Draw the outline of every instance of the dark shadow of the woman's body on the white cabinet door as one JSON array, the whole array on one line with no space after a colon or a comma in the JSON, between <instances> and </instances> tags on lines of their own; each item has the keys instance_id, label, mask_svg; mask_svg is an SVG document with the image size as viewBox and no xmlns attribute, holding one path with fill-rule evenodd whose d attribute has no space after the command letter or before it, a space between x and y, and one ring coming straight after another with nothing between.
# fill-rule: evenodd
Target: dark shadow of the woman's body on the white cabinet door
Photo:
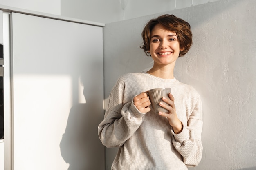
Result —
<instances>
[{"instance_id":1,"label":"dark shadow of the woman's body on the white cabinet door","mask_svg":"<svg viewBox=\"0 0 256 170\"><path fill-rule=\"evenodd\" d=\"M97 133L99 122L92 114L94 111L90 103L77 104L70 109L60 143L61 155L70 164L68 170L103 169L102 163L98 163L104 154L96 147L101 143Z\"/></svg>"}]
</instances>

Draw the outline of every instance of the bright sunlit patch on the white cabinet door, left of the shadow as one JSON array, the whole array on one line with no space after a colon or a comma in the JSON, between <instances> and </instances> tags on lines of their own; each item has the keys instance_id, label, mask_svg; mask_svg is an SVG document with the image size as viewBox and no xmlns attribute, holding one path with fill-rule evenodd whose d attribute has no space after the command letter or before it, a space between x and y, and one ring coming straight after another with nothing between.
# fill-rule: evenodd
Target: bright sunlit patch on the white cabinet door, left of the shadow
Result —
<instances>
[{"instance_id":1,"label":"bright sunlit patch on the white cabinet door, left of the shadow","mask_svg":"<svg viewBox=\"0 0 256 170\"><path fill-rule=\"evenodd\" d=\"M62 168L67 169L68 165L63 164L59 142L65 132L72 107L72 77L14 75L13 95L13 132L16 148L14 159L24 157L24 153L29 150L44 155L41 159L36 159L40 162L31 162L29 166L36 167L42 162L47 162L49 166L63 165L65 167ZM46 160L47 155L52 155L55 159L49 162ZM33 157L34 155L27 155L24 159L15 159L15 165L22 167L24 162Z\"/></svg>"}]
</instances>

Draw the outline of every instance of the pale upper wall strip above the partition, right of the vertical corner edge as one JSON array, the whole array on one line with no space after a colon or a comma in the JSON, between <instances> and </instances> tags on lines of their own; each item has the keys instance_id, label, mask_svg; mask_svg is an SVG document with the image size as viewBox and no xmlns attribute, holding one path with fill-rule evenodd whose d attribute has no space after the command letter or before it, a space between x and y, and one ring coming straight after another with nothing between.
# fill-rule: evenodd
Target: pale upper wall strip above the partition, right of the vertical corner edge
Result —
<instances>
[{"instance_id":1,"label":"pale upper wall strip above the partition, right of the vertical corner edge","mask_svg":"<svg viewBox=\"0 0 256 170\"><path fill-rule=\"evenodd\" d=\"M61 15L110 23L155 13L190 7L216 0L126 0L123 12L120 0L62 0ZM176 3L175 3L176 2Z\"/></svg>"}]
</instances>

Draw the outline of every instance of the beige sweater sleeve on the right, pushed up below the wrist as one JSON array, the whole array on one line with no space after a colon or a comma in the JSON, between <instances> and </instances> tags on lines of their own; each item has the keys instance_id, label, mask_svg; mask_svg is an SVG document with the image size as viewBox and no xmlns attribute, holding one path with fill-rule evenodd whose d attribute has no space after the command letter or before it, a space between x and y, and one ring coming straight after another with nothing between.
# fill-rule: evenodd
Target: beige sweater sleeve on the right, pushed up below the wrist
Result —
<instances>
[{"instance_id":1,"label":"beige sweater sleeve on the right, pushed up below the wrist","mask_svg":"<svg viewBox=\"0 0 256 170\"><path fill-rule=\"evenodd\" d=\"M184 126L184 123L182 123ZM186 166L197 166L202 159L202 102L200 97L192 109L187 126L183 127L182 132L175 134L171 130L174 138L173 145L182 155Z\"/></svg>"}]
</instances>

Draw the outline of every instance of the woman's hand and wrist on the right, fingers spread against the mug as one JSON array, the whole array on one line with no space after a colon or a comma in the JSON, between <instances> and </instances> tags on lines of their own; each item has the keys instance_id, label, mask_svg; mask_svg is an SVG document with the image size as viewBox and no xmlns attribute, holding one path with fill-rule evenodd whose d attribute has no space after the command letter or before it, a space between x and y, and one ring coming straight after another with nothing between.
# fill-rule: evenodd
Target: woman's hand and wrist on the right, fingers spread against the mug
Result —
<instances>
[{"instance_id":1,"label":"woman's hand and wrist on the right, fingers spread against the mug","mask_svg":"<svg viewBox=\"0 0 256 170\"><path fill-rule=\"evenodd\" d=\"M163 97L163 101L166 102L168 105L160 102L159 105L166 110L168 110L168 113L159 112L159 115L164 116L168 119L169 124L173 127L174 133L178 134L182 131L183 125L181 121L177 117L176 108L174 104L174 97L171 93L168 94L169 99L166 97Z\"/></svg>"}]
</instances>

